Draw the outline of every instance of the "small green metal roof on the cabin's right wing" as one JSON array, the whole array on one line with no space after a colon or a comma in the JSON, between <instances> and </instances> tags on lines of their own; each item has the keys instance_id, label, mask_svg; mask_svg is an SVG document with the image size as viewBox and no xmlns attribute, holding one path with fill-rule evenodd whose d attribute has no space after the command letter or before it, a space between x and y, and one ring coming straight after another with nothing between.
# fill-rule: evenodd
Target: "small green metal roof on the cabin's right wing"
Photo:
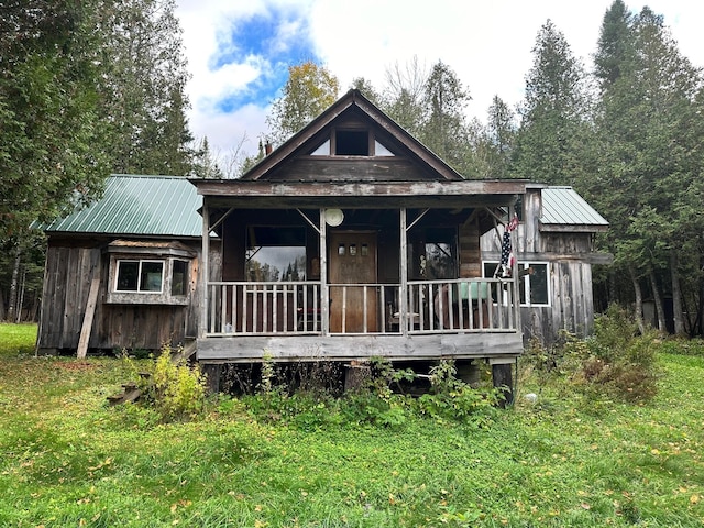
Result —
<instances>
[{"instance_id":1,"label":"small green metal roof on the cabin's right wing","mask_svg":"<svg viewBox=\"0 0 704 528\"><path fill-rule=\"evenodd\" d=\"M543 226L608 226L606 219L572 187L546 187L541 193L540 223Z\"/></svg>"}]
</instances>

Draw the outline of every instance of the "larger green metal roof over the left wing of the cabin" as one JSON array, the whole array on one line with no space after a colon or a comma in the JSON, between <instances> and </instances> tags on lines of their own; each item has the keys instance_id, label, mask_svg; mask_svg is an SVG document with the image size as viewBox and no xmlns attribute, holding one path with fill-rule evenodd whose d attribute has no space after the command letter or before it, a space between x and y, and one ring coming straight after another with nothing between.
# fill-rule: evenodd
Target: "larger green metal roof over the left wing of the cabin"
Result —
<instances>
[{"instance_id":1,"label":"larger green metal roof over the left wing of the cabin","mask_svg":"<svg viewBox=\"0 0 704 528\"><path fill-rule=\"evenodd\" d=\"M48 233L201 237L202 197L187 178L114 174L103 197L45 228Z\"/></svg>"}]
</instances>

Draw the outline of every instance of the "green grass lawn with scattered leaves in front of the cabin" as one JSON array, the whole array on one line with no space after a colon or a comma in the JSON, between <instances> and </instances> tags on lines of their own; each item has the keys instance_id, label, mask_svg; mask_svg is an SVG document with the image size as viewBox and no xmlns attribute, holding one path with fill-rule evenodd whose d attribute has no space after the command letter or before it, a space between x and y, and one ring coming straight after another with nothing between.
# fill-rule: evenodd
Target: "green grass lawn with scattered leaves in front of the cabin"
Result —
<instances>
[{"instance_id":1,"label":"green grass lawn with scattered leaves in front of the cabin","mask_svg":"<svg viewBox=\"0 0 704 528\"><path fill-rule=\"evenodd\" d=\"M106 404L123 362L24 355L35 331L0 326L0 526L704 526L700 355L662 354L647 405L528 376L535 405L479 425L272 425L240 400L158 425Z\"/></svg>"}]
</instances>

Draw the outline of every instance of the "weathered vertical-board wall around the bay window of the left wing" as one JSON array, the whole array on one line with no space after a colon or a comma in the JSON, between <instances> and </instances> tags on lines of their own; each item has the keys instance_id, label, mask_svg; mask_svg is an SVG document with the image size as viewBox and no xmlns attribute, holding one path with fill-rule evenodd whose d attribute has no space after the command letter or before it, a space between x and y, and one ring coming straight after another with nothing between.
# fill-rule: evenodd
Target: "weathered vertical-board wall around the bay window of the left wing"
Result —
<instances>
[{"instance_id":1,"label":"weathered vertical-board wall around the bay window of the left wing","mask_svg":"<svg viewBox=\"0 0 704 528\"><path fill-rule=\"evenodd\" d=\"M110 255L103 244L92 248L50 242L42 298L37 348L74 351L78 348L91 278L100 274L100 289L88 348L90 350L156 350L165 342L180 344L198 328L199 257L191 261L191 292L183 305L109 304ZM200 254L200 243L190 243ZM213 244L213 273L219 273L219 244ZM217 276L217 275L216 275Z\"/></svg>"}]
</instances>

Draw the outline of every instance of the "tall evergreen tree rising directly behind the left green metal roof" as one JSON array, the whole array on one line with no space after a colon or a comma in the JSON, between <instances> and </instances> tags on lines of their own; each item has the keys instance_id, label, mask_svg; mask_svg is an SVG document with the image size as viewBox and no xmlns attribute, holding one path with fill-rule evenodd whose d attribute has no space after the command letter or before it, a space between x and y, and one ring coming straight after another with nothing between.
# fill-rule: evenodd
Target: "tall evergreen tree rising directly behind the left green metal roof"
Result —
<instances>
[{"instance_id":1,"label":"tall evergreen tree rising directly behind the left green metal roof","mask_svg":"<svg viewBox=\"0 0 704 528\"><path fill-rule=\"evenodd\" d=\"M188 80L174 0L105 0L100 78L117 173L186 175L193 136L185 112Z\"/></svg>"}]
</instances>

